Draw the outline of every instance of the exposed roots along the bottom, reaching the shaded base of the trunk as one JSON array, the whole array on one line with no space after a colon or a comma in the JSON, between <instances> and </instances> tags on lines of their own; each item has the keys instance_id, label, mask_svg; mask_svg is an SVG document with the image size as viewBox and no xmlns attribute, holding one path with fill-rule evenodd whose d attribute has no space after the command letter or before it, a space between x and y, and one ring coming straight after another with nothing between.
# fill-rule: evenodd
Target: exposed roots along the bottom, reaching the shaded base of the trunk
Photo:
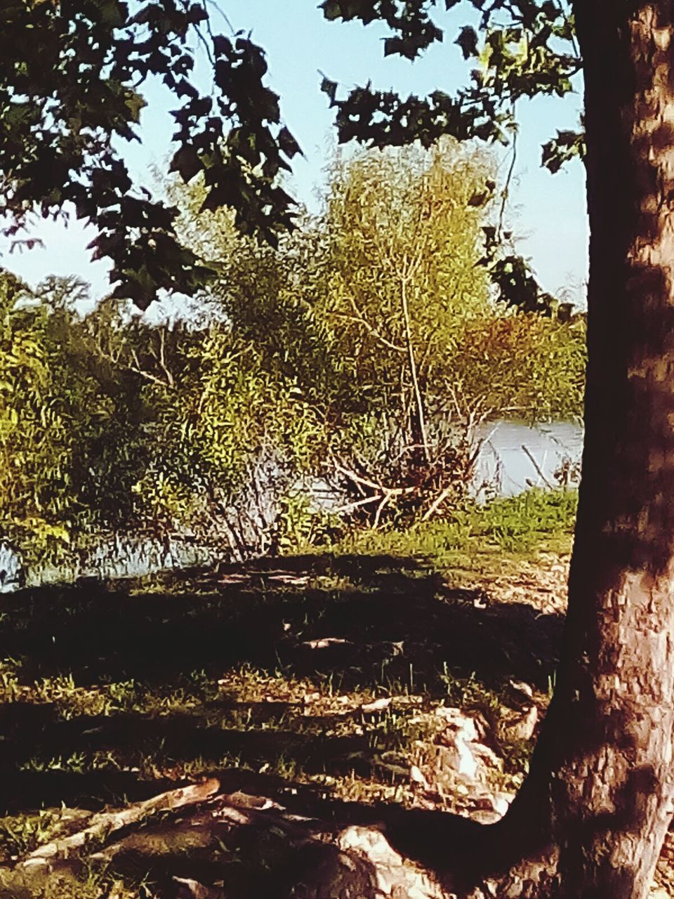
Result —
<instances>
[{"instance_id":1,"label":"exposed roots along the bottom, reaching the shaded base of the trunk","mask_svg":"<svg viewBox=\"0 0 674 899\"><path fill-rule=\"evenodd\" d=\"M77 877L92 868L129 883L146 877L146 895L156 899L560 896L554 850L532 851L528 861L508 869L505 859L519 839L506 821L483 825L386 807L377 823L333 822L291 814L266 797L218 789L218 781L208 779L93 814L83 829L40 846L13 868L0 868L0 897L76 897ZM53 891L66 883L68 890Z\"/></svg>"}]
</instances>

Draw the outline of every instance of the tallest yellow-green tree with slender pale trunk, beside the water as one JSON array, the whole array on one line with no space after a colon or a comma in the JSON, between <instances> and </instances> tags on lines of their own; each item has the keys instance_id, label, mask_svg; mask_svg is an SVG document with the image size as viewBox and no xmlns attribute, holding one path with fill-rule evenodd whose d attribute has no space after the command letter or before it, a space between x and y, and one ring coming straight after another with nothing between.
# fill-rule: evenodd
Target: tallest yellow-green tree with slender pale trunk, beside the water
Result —
<instances>
[{"instance_id":1,"label":"tallest yellow-green tree with slender pale trunk, beside the water","mask_svg":"<svg viewBox=\"0 0 674 899\"><path fill-rule=\"evenodd\" d=\"M446 143L432 153L361 154L333 176L331 311L343 352L357 347L357 366L390 386L386 407L412 463L430 464L437 442L429 384L442 392L447 372L437 369L457 325L487 300L486 273L476 266L483 203L474 202L486 167Z\"/></svg>"}]
</instances>

